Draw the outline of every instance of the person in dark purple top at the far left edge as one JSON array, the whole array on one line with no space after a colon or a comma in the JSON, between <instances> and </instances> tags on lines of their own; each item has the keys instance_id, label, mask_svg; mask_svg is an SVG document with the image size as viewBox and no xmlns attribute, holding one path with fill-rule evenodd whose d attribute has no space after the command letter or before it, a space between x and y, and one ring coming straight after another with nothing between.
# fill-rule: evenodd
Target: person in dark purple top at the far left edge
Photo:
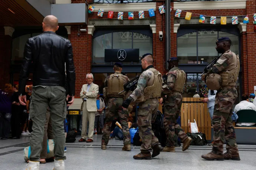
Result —
<instances>
[{"instance_id":1,"label":"person in dark purple top at the far left edge","mask_svg":"<svg viewBox=\"0 0 256 170\"><path fill-rule=\"evenodd\" d=\"M12 85L5 84L4 89L0 89L0 137L6 140L10 133L12 116Z\"/></svg>"}]
</instances>

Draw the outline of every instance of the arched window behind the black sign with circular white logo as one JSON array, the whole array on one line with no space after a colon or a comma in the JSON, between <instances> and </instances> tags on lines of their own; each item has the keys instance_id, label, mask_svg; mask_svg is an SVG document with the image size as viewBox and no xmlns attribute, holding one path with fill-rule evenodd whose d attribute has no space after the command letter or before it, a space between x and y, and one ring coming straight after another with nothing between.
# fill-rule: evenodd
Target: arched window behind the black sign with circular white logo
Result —
<instances>
[{"instance_id":1,"label":"arched window behind the black sign with circular white logo","mask_svg":"<svg viewBox=\"0 0 256 170\"><path fill-rule=\"evenodd\" d=\"M104 61L105 49L139 48L140 55L152 53L152 37L129 31L107 33L94 37L92 48L92 64L110 65L110 62ZM123 62L123 64L139 64L139 62Z\"/></svg>"}]
</instances>

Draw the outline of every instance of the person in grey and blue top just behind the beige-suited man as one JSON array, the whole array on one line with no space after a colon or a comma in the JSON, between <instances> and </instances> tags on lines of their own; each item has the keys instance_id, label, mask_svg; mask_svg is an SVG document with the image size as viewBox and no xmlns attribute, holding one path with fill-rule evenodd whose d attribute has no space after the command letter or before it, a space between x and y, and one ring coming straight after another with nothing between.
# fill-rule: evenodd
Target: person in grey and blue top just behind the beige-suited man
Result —
<instances>
[{"instance_id":1,"label":"person in grey and blue top just behind the beige-suited man","mask_svg":"<svg viewBox=\"0 0 256 170\"><path fill-rule=\"evenodd\" d=\"M94 134L98 135L97 133L97 125L99 122L99 128L101 128L101 133L103 133L104 128L104 112L105 109L105 102L102 98L99 97L100 94L97 95L96 105L97 105L97 112L95 114L95 122L94 122Z\"/></svg>"}]
</instances>

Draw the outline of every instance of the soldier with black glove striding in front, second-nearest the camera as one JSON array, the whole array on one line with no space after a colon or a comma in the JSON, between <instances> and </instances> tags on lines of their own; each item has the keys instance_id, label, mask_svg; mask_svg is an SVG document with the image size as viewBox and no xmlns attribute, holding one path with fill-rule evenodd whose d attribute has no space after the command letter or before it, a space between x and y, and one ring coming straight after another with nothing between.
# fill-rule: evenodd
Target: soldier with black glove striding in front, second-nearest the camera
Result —
<instances>
[{"instance_id":1,"label":"soldier with black glove striding in front, second-nearest the camera","mask_svg":"<svg viewBox=\"0 0 256 170\"><path fill-rule=\"evenodd\" d=\"M131 102L139 102L137 123L142 145L141 153L134 155L134 159L151 159L151 147L152 157L157 156L163 150L151 128L152 115L157 113L158 97L161 96L163 82L160 72L154 69L153 61L152 54L141 56L141 65L145 71L140 75L137 88L122 104L124 108L127 108Z\"/></svg>"}]
</instances>

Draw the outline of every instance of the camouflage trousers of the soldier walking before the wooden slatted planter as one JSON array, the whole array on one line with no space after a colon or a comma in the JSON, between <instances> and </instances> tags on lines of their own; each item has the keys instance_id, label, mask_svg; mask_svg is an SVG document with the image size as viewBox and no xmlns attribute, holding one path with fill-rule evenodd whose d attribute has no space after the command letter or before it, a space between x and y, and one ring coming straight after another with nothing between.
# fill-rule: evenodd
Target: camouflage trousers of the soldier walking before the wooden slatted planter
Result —
<instances>
[{"instance_id":1,"label":"camouflage trousers of the soldier walking before the wooden slatted planter","mask_svg":"<svg viewBox=\"0 0 256 170\"><path fill-rule=\"evenodd\" d=\"M164 104L164 130L166 133L166 146L175 146L175 134L180 137L181 142L187 139L187 134L181 129L180 125L176 122L176 119L180 115L182 105L181 93L172 93L167 96Z\"/></svg>"}]
</instances>

